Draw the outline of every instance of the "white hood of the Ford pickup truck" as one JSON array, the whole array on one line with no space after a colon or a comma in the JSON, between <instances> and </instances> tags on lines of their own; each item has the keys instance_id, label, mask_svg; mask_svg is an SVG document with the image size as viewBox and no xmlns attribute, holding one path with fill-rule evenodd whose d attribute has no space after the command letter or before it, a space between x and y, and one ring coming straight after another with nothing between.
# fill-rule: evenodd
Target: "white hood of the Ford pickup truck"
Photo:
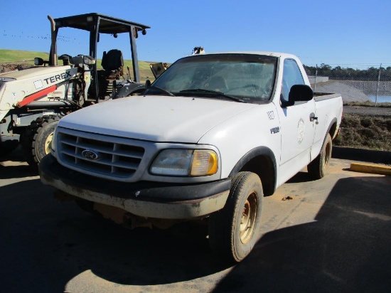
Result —
<instances>
[{"instance_id":1,"label":"white hood of the Ford pickup truck","mask_svg":"<svg viewBox=\"0 0 391 293\"><path fill-rule=\"evenodd\" d=\"M200 97L137 96L102 102L60 120L68 129L152 142L197 143L254 104Z\"/></svg>"}]
</instances>

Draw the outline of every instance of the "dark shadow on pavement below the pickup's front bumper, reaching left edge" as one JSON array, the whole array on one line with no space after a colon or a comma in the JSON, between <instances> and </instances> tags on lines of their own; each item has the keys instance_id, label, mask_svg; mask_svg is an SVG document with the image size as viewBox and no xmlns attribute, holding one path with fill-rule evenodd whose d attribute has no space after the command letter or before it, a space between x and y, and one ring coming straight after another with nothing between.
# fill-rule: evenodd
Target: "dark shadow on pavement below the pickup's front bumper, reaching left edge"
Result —
<instances>
[{"instance_id":1,"label":"dark shadow on pavement below the pickup's front bumper, reaching left edge","mask_svg":"<svg viewBox=\"0 0 391 293\"><path fill-rule=\"evenodd\" d=\"M0 173L2 170L0 169ZM128 230L57 203L39 179L0 187L4 292L63 292L91 270L118 284L167 284L220 272L203 225Z\"/></svg>"}]
</instances>

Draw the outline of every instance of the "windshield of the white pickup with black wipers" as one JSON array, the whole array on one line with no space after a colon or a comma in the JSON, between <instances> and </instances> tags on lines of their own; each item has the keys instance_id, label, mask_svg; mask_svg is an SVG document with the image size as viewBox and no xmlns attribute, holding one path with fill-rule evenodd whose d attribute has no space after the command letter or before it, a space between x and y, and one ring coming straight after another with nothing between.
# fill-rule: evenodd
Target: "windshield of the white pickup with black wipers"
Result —
<instances>
[{"instance_id":1,"label":"windshield of the white pickup with black wipers","mask_svg":"<svg viewBox=\"0 0 391 293\"><path fill-rule=\"evenodd\" d=\"M277 58L266 55L195 55L173 63L146 93L161 95L158 87L172 95L262 102L272 95L276 68Z\"/></svg>"}]
</instances>

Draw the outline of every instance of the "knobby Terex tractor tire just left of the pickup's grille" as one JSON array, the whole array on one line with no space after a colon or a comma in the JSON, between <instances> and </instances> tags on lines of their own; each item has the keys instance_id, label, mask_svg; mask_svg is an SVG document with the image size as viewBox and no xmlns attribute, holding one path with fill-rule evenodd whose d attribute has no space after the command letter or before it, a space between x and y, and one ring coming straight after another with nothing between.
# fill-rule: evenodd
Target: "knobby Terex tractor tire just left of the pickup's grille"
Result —
<instances>
[{"instance_id":1,"label":"knobby Terex tractor tire just left of the pickup's grille","mask_svg":"<svg viewBox=\"0 0 391 293\"><path fill-rule=\"evenodd\" d=\"M57 127L60 115L45 115L39 117L26 127L23 138L23 152L27 163L38 170L38 165L43 156L50 153L53 132Z\"/></svg>"}]
</instances>

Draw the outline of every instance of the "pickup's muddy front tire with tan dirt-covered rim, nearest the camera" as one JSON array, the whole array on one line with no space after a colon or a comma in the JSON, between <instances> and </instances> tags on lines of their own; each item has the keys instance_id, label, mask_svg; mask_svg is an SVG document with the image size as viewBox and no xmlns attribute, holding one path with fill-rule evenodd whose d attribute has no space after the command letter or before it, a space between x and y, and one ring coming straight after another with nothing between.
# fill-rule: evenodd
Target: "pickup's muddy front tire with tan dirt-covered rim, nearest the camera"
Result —
<instances>
[{"instance_id":1,"label":"pickup's muddy front tire with tan dirt-covered rim, nearest the camera","mask_svg":"<svg viewBox=\"0 0 391 293\"><path fill-rule=\"evenodd\" d=\"M209 244L215 254L240 262L259 240L262 183L257 174L240 172L232 179L223 210L210 215Z\"/></svg>"}]
</instances>

